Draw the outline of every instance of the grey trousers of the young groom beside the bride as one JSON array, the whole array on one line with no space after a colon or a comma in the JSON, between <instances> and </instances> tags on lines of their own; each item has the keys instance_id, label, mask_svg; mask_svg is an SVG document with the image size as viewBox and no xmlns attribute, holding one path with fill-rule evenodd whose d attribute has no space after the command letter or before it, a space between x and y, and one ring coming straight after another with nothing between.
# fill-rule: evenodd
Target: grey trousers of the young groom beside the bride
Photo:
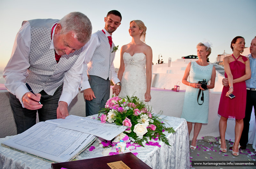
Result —
<instances>
[{"instance_id":1,"label":"grey trousers of the young groom beside the bride","mask_svg":"<svg viewBox=\"0 0 256 169\"><path fill-rule=\"evenodd\" d=\"M110 80L105 80L98 76L88 76L89 83L96 98L91 101L85 101L86 116L98 114L101 108L104 108L110 94Z\"/></svg>"}]
</instances>

